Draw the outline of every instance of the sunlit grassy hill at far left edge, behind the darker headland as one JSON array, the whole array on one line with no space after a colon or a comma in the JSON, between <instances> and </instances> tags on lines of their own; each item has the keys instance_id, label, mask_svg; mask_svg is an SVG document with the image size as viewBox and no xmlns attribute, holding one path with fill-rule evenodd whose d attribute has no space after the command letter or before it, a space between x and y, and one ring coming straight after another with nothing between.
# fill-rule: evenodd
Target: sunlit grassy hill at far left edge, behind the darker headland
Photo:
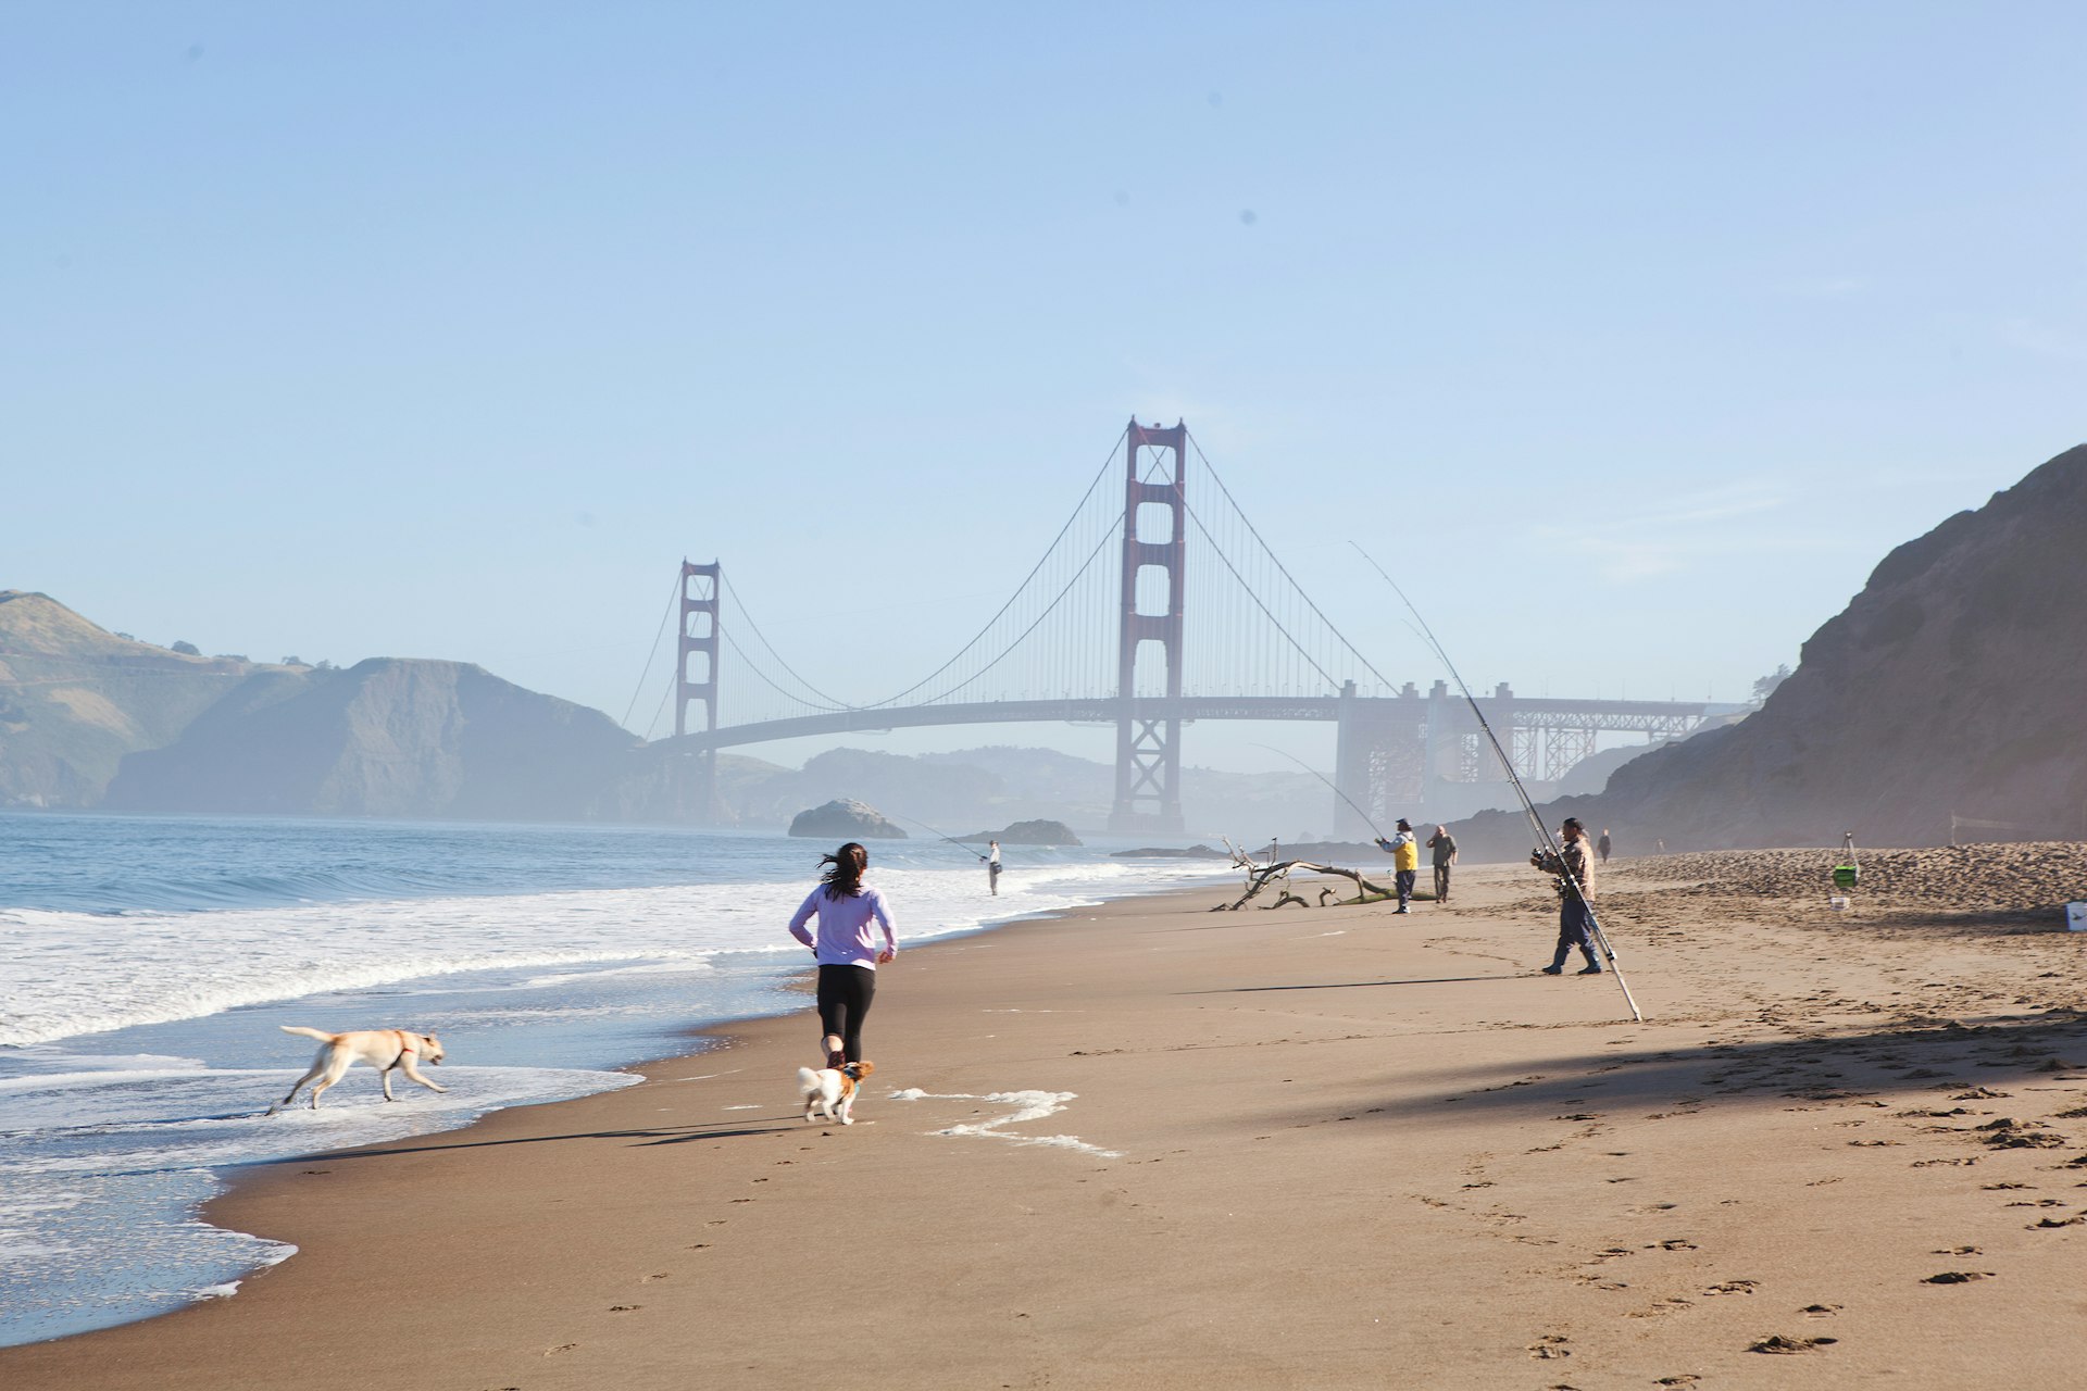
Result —
<instances>
[{"instance_id":1,"label":"sunlit grassy hill at far left edge, behind the darker headland","mask_svg":"<svg viewBox=\"0 0 2087 1391\"><path fill-rule=\"evenodd\" d=\"M121 638L0 590L0 807L92 807L123 755L171 742L261 667Z\"/></svg>"}]
</instances>

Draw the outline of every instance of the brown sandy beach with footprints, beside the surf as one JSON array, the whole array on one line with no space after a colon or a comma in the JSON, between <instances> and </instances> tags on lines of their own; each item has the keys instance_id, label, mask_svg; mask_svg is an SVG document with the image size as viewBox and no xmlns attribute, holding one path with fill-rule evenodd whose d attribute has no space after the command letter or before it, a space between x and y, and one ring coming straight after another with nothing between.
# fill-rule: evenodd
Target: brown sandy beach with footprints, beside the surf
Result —
<instances>
[{"instance_id":1,"label":"brown sandy beach with footprints, beside the surf","mask_svg":"<svg viewBox=\"0 0 2087 1391\"><path fill-rule=\"evenodd\" d=\"M269 1166L213 1220L296 1258L0 1385L2081 1385L2087 934L1947 874L1828 913L1830 859L1611 865L1645 1024L1532 974L1517 868L910 951L851 1128L799 1016Z\"/></svg>"}]
</instances>

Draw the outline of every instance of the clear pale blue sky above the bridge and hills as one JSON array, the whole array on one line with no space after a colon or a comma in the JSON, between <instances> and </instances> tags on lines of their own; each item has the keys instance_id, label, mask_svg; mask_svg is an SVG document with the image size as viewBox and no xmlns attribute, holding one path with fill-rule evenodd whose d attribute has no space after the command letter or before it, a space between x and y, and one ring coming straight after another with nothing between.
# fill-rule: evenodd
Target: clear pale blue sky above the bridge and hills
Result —
<instances>
[{"instance_id":1,"label":"clear pale blue sky above the bridge and hills","mask_svg":"<svg viewBox=\"0 0 2087 1391\"><path fill-rule=\"evenodd\" d=\"M15 2L0 586L622 715L722 557L877 699L1181 415L1386 672L1436 676L1350 538L1473 682L1743 699L2087 438L2083 52L2077 4Z\"/></svg>"}]
</instances>

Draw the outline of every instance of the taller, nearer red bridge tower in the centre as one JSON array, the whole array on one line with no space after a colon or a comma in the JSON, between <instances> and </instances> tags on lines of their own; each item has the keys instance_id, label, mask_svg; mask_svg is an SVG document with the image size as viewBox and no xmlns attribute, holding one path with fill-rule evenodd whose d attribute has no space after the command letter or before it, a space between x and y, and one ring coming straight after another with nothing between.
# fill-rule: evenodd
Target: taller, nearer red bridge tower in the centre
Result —
<instances>
[{"instance_id":1,"label":"taller, nearer red bridge tower in the centre","mask_svg":"<svg viewBox=\"0 0 2087 1391\"><path fill-rule=\"evenodd\" d=\"M1154 482L1137 478L1137 450L1150 450ZM1167 450L1173 453L1169 465ZM1146 717L1137 703L1137 655L1158 642L1167 699L1181 699L1181 599L1185 592L1188 515L1181 475L1188 425L1171 430L1131 419L1123 444L1123 611L1117 626L1117 805L1108 830L1181 834L1181 719ZM1165 521L1165 534L1160 523ZM1154 569L1167 580L1167 605L1142 611L1137 580ZM1148 594L1156 601L1156 594Z\"/></svg>"}]
</instances>

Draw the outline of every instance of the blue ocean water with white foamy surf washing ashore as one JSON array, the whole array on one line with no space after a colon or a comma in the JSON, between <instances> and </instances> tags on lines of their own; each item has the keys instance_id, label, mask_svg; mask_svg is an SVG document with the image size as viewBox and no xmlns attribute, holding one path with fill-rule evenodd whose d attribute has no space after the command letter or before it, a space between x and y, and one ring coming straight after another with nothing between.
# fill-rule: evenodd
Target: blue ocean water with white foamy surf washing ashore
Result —
<instances>
[{"instance_id":1,"label":"blue ocean water with white foamy surf washing ashore","mask_svg":"<svg viewBox=\"0 0 2087 1391\"><path fill-rule=\"evenodd\" d=\"M198 1207L240 1166L626 1087L682 1030L783 1014L785 922L824 847L599 826L0 813L0 1345L232 1295L280 1243ZM870 847L899 945L1208 880L1110 847L1008 847L1000 897L941 840ZM436 1095L353 1068L267 1107L317 1045L442 1036Z\"/></svg>"}]
</instances>

